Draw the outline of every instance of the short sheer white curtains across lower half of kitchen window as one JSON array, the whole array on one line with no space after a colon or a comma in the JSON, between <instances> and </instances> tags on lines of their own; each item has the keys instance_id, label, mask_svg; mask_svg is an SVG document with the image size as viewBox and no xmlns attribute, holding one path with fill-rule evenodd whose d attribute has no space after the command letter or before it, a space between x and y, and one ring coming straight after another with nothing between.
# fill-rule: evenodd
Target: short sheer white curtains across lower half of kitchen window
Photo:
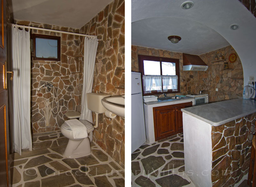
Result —
<instances>
[{"instance_id":1,"label":"short sheer white curtains across lower half of kitchen window","mask_svg":"<svg viewBox=\"0 0 256 187\"><path fill-rule=\"evenodd\" d=\"M178 75L143 75L144 93L151 93L152 90L157 92L178 91ZM163 90L162 90L163 82Z\"/></svg>"}]
</instances>

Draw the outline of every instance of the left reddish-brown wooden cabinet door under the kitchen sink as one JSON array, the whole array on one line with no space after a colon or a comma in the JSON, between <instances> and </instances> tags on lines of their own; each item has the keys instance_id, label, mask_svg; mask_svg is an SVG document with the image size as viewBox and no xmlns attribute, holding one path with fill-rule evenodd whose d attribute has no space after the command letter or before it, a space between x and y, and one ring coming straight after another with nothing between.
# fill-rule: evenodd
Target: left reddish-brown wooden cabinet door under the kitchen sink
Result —
<instances>
[{"instance_id":1,"label":"left reddish-brown wooden cabinet door under the kitchen sink","mask_svg":"<svg viewBox=\"0 0 256 187\"><path fill-rule=\"evenodd\" d=\"M156 141L176 133L175 107L172 105L154 107L153 113Z\"/></svg>"}]
</instances>

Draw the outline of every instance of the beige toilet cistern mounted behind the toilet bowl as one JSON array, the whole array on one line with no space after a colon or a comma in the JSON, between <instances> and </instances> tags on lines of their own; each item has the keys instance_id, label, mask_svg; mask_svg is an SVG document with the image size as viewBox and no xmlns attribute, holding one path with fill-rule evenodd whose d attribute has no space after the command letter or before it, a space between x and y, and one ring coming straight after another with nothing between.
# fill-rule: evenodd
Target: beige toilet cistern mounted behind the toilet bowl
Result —
<instances>
[{"instance_id":1,"label":"beige toilet cistern mounted behind the toilet bowl","mask_svg":"<svg viewBox=\"0 0 256 187\"><path fill-rule=\"evenodd\" d=\"M86 93L88 109L92 112L104 113L107 109L101 104L101 99L109 96L110 95L104 93Z\"/></svg>"}]
</instances>

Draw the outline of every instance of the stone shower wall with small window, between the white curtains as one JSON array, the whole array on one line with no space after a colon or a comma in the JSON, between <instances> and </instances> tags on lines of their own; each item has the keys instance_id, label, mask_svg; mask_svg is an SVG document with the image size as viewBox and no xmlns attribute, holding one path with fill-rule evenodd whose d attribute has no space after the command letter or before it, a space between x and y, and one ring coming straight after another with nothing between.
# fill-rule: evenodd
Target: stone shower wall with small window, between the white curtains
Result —
<instances>
[{"instance_id":1,"label":"stone shower wall with small window, between the white curtains","mask_svg":"<svg viewBox=\"0 0 256 187\"><path fill-rule=\"evenodd\" d=\"M41 24L29 21L15 21L20 25L32 27L42 27L53 30L61 30L79 33L79 29L70 27L60 27L48 24ZM60 34L56 32L31 29L31 33L42 35L57 35L61 37L61 61L32 60L31 63L31 123L32 132L46 132L59 130L60 126L67 120L64 115L67 111L80 111L81 105L81 84L82 56L79 50L79 36ZM44 108L45 101L53 100L53 88L48 91L46 88L36 89L45 82L51 82L57 90L60 99L60 109L57 114L53 114L46 127ZM57 111L57 100L53 105L53 110ZM52 107L52 105L50 105Z\"/></svg>"}]
</instances>

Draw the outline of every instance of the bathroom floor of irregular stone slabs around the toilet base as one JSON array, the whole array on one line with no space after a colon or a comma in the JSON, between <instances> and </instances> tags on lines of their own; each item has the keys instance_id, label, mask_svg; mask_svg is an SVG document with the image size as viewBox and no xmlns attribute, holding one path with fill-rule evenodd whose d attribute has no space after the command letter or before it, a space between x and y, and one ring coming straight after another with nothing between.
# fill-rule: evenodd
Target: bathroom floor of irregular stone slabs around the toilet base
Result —
<instances>
[{"instance_id":1,"label":"bathroom floor of irregular stone slabs around the toilet base","mask_svg":"<svg viewBox=\"0 0 256 187\"><path fill-rule=\"evenodd\" d=\"M12 187L123 187L124 169L98 145L76 159L62 156L66 145L11 155Z\"/></svg>"}]
</instances>

